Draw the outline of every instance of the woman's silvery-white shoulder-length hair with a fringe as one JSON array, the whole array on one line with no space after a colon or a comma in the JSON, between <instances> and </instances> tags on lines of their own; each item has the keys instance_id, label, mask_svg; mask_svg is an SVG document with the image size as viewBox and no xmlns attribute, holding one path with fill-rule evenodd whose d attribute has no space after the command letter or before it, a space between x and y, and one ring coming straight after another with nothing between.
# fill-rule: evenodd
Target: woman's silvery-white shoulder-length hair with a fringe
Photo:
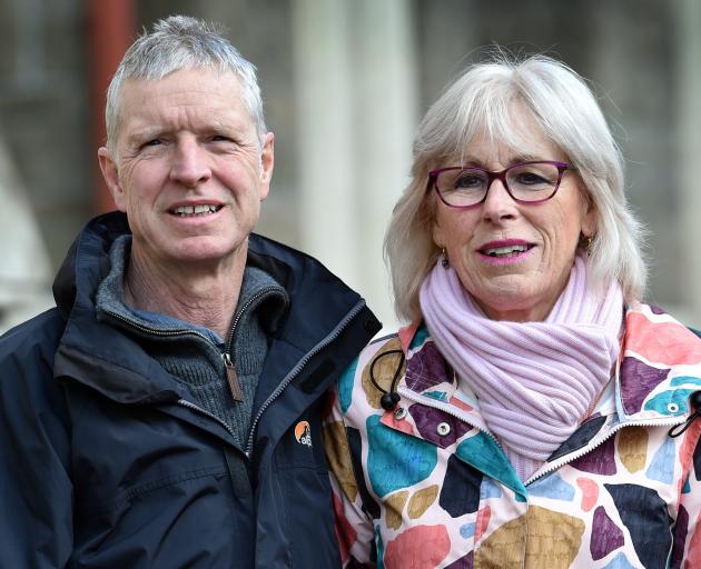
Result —
<instances>
[{"instance_id":1,"label":"woman's silvery-white shoulder-length hair with a fringe","mask_svg":"<svg viewBox=\"0 0 701 569\"><path fill-rule=\"evenodd\" d=\"M418 292L440 254L433 241L436 198L427 193L428 172L461 160L478 133L520 148L527 133L514 126L524 109L569 157L595 208L598 229L588 247L594 284L618 280L626 301L644 295L644 229L628 204L623 158L592 91L560 61L544 56L509 59L500 53L470 67L448 86L418 127L412 180L394 208L385 237L385 259L401 319L421 317Z\"/></svg>"}]
</instances>

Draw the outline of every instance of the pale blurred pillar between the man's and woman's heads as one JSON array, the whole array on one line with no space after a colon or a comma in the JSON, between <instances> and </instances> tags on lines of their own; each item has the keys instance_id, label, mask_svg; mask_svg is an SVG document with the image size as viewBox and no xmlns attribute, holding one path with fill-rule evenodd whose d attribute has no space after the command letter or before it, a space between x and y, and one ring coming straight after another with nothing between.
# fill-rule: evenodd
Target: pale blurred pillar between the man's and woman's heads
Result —
<instances>
[{"instance_id":1,"label":"pale blurred pillar between the man's and woman's heads","mask_svg":"<svg viewBox=\"0 0 701 569\"><path fill-rule=\"evenodd\" d=\"M404 0L296 0L303 248L396 328L382 241L408 181L416 58Z\"/></svg>"}]
</instances>

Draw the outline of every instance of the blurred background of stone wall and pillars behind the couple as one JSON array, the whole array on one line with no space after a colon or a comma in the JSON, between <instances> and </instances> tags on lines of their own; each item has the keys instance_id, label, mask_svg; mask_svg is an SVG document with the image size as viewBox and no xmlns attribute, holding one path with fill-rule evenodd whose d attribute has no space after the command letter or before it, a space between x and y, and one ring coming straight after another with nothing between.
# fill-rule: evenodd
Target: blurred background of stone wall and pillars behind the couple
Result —
<instances>
[{"instance_id":1,"label":"blurred background of stone wall and pillars behind the couple","mask_svg":"<svg viewBox=\"0 0 701 569\"><path fill-rule=\"evenodd\" d=\"M259 232L319 258L395 326L382 238L412 138L485 49L588 78L650 230L648 300L701 327L700 0L0 0L0 331L52 305L97 168L105 90L155 20L221 22L258 67L276 167Z\"/></svg>"}]
</instances>

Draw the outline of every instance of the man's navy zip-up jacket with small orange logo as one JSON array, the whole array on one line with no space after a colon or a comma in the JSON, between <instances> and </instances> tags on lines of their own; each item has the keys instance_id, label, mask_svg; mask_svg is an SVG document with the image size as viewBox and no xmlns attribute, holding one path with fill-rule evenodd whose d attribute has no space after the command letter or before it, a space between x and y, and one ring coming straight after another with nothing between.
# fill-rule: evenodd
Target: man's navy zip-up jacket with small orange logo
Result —
<instances>
[{"instance_id":1,"label":"man's navy zip-up jacket with small orange logo","mask_svg":"<svg viewBox=\"0 0 701 569\"><path fill-rule=\"evenodd\" d=\"M248 263L290 305L238 448L186 385L97 320L126 231L121 214L92 220L57 276L57 308L0 340L0 567L338 567L322 396L377 320L317 261L251 236Z\"/></svg>"}]
</instances>

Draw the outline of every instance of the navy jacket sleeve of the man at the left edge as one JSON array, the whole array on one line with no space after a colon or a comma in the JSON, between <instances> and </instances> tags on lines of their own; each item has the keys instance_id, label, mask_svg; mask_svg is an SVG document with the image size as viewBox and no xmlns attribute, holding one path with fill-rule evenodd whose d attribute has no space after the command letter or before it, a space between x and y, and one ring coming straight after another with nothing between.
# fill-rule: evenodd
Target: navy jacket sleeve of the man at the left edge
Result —
<instances>
[{"instance_id":1,"label":"navy jacket sleeve of the man at the left edge","mask_svg":"<svg viewBox=\"0 0 701 569\"><path fill-rule=\"evenodd\" d=\"M70 430L52 362L31 342L0 340L0 567L56 569L72 552Z\"/></svg>"}]
</instances>

